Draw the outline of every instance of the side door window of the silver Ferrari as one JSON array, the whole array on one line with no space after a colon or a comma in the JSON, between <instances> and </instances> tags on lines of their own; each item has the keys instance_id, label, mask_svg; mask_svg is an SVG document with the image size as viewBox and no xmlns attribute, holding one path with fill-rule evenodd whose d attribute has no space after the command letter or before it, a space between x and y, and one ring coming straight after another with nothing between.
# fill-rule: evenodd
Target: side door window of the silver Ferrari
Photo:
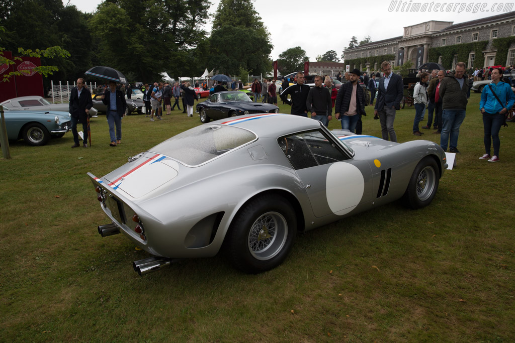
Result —
<instances>
[{"instance_id":1,"label":"side door window of the silver Ferrari","mask_svg":"<svg viewBox=\"0 0 515 343\"><path fill-rule=\"evenodd\" d=\"M294 169L321 166L349 158L319 130L281 137L278 143Z\"/></svg>"}]
</instances>

